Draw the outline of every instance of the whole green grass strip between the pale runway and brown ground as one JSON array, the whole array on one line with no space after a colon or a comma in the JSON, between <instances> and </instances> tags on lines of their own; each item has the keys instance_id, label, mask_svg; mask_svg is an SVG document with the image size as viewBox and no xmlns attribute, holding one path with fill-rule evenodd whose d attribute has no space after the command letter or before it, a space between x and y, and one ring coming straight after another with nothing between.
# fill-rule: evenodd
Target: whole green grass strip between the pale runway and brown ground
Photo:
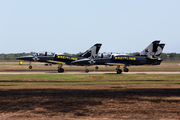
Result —
<instances>
[{"instance_id":1,"label":"whole green grass strip between the pale runway and brown ground","mask_svg":"<svg viewBox=\"0 0 180 120\"><path fill-rule=\"evenodd\" d=\"M0 85L27 84L180 84L180 75L0 75Z\"/></svg>"}]
</instances>

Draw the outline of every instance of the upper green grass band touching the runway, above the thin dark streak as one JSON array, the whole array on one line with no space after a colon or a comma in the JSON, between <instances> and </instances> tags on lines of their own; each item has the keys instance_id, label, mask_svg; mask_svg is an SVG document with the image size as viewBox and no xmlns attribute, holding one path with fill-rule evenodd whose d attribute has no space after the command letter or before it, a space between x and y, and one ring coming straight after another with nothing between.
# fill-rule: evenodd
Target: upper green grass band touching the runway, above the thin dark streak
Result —
<instances>
[{"instance_id":1,"label":"upper green grass band touching the runway, above the thin dark streak","mask_svg":"<svg viewBox=\"0 0 180 120\"><path fill-rule=\"evenodd\" d=\"M59 74L32 74L32 75L0 75L1 80L43 80L43 81L101 81L101 80L180 80L180 75L125 75L125 74L105 74L105 75L59 75Z\"/></svg>"}]
</instances>

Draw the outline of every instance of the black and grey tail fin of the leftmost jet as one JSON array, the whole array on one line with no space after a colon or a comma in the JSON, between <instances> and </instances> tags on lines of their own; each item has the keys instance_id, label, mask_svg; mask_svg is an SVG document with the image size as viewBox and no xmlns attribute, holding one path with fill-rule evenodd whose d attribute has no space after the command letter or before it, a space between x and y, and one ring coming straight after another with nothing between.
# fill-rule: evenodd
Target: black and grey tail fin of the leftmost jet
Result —
<instances>
[{"instance_id":1,"label":"black and grey tail fin of the leftmost jet","mask_svg":"<svg viewBox=\"0 0 180 120\"><path fill-rule=\"evenodd\" d=\"M101 48L100 43L95 44L94 46L92 46L90 49L88 49L87 51L85 51L82 55L80 55L81 57L95 57L95 55L99 52L99 49Z\"/></svg>"}]
</instances>

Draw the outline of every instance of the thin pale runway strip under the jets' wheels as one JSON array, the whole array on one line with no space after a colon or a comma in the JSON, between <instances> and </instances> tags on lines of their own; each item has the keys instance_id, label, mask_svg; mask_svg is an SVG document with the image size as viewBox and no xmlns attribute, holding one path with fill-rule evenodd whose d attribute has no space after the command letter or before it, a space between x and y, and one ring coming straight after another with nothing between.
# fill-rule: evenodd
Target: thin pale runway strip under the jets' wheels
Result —
<instances>
[{"instance_id":1,"label":"thin pale runway strip under the jets' wheels","mask_svg":"<svg viewBox=\"0 0 180 120\"><path fill-rule=\"evenodd\" d=\"M24 75L24 74L117 74L116 72L0 72L0 75ZM123 72L122 74L180 74L180 72Z\"/></svg>"}]
</instances>

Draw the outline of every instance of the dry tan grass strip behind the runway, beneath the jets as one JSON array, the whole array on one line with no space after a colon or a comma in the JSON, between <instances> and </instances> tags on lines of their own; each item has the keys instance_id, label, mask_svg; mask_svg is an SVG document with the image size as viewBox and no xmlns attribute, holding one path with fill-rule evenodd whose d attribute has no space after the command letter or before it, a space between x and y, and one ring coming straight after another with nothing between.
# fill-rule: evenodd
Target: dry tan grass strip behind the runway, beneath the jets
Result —
<instances>
[{"instance_id":1,"label":"dry tan grass strip behind the runway, beneath the jets","mask_svg":"<svg viewBox=\"0 0 180 120\"><path fill-rule=\"evenodd\" d=\"M53 66L44 66L42 63L33 63L33 68L30 70L28 68L28 63L24 65L18 65L18 62L13 64L11 62L0 64L0 72L36 72L36 71L45 71L45 72L57 72L58 65ZM85 66L67 66L63 65L65 72L80 71L84 72ZM123 67L121 67L122 69ZM164 72L176 72L180 71L180 61L163 62L161 65L157 66L130 66L128 67L130 72L149 72L149 71L164 71ZM116 72L116 66L105 66L100 65L98 70L95 70L95 66L88 66L90 72L94 71L114 71Z\"/></svg>"}]
</instances>

